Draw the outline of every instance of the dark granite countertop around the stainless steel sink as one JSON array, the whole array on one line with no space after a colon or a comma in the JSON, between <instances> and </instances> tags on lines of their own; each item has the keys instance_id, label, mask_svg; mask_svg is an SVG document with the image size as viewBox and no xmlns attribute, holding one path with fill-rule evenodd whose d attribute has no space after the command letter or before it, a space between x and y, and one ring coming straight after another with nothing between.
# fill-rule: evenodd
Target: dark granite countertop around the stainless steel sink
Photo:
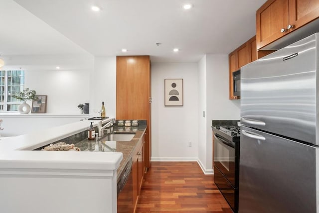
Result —
<instances>
[{"instance_id":1,"label":"dark granite countertop around the stainless steel sink","mask_svg":"<svg viewBox=\"0 0 319 213\"><path fill-rule=\"evenodd\" d=\"M142 139L147 125L144 122L139 121L139 126L117 126L113 125L110 128L104 130L104 136L99 140L84 139L77 143L74 143L76 147L79 147L81 151L98 151L98 152L122 152L123 160L117 169L117 179L121 176L125 165L132 158L133 151L137 146L139 140ZM107 141L106 136L110 133L135 133L134 137L130 141Z\"/></svg>"}]
</instances>

